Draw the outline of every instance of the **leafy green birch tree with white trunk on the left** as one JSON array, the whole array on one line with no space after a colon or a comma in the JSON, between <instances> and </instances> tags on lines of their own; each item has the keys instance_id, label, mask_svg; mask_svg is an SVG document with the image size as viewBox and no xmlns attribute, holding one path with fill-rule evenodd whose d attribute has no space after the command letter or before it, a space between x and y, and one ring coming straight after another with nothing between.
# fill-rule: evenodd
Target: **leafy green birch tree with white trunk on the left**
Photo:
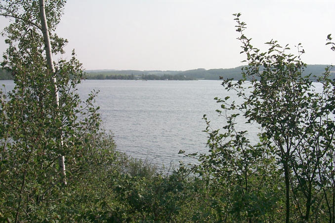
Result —
<instances>
[{"instance_id":1,"label":"leafy green birch tree with white trunk on the left","mask_svg":"<svg viewBox=\"0 0 335 223\"><path fill-rule=\"evenodd\" d=\"M82 144L89 147L99 129L95 93L83 102L76 91L83 71L75 53L68 61L52 60L67 43L54 33L64 5L0 2L0 15L11 22L3 31L8 48L1 66L15 83L11 91L0 89L0 221L58 218L55 204L84 173L89 154Z\"/></svg>"}]
</instances>

